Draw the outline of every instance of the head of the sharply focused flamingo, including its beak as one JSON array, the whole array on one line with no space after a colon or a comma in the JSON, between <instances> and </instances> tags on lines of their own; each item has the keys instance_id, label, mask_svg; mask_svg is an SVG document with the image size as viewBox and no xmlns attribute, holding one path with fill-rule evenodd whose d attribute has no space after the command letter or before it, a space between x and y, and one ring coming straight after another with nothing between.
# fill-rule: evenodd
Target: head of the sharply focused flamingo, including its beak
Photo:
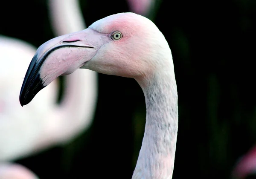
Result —
<instances>
[{"instance_id":1,"label":"head of the sharply focused flamingo, including its beak","mask_svg":"<svg viewBox=\"0 0 256 179\"><path fill-rule=\"evenodd\" d=\"M20 104L28 104L55 78L78 68L137 81L150 78L172 64L166 55L171 56L168 43L151 20L134 13L105 17L38 48L21 87Z\"/></svg>"}]
</instances>

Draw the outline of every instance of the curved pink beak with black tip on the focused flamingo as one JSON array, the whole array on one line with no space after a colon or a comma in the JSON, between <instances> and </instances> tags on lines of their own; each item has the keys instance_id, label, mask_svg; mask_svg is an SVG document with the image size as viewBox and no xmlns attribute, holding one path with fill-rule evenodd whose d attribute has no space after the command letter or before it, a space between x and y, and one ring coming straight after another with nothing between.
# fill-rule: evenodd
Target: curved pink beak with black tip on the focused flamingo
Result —
<instances>
[{"instance_id":1,"label":"curved pink beak with black tip on the focused flamingo","mask_svg":"<svg viewBox=\"0 0 256 179\"><path fill-rule=\"evenodd\" d=\"M35 95L60 75L79 69L111 41L107 34L93 29L74 32L53 38L36 51L27 69L21 90L21 106L29 104Z\"/></svg>"}]
</instances>

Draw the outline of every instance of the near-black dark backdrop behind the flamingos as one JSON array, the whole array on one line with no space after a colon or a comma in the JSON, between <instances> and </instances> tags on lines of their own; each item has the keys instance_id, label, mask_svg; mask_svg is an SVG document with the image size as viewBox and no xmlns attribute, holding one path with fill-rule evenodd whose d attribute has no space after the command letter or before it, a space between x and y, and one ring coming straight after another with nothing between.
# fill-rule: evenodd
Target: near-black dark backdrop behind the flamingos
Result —
<instances>
[{"instance_id":1,"label":"near-black dark backdrop behind the flamingos","mask_svg":"<svg viewBox=\"0 0 256 179\"><path fill-rule=\"evenodd\" d=\"M125 0L80 0L87 26L128 12ZM154 23L172 49L179 100L173 179L230 178L256 143L255 0L162 0ZM151 16L153 17L153 16ZM0 34L38 47L55 37L47 0L3 0ZM99 74L92 127L63 147L15 162L41 179L131 179L145 101L135 80Z\"/></svg>"}]
</instances>

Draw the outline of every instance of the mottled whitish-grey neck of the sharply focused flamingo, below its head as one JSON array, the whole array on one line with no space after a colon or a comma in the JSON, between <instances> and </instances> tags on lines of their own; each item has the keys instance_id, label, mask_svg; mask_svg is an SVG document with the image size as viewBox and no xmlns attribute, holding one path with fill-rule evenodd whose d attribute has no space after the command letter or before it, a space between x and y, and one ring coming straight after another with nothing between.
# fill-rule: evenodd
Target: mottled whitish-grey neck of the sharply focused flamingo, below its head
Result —
<instances>
[{"instance_id":1,"label":"mottled whitish-grey neck of the sharply focused flamingo, below its head","mask_svg":"<svg viewBox=\"0 0 256 179\"><path fill-rule=\"evenodd\" d=\"M170 71L158 75L146 87L142 87L147 115L142 147L132 179L172 179L178 108L175 75Z\"/></svg>"}]
</instances>

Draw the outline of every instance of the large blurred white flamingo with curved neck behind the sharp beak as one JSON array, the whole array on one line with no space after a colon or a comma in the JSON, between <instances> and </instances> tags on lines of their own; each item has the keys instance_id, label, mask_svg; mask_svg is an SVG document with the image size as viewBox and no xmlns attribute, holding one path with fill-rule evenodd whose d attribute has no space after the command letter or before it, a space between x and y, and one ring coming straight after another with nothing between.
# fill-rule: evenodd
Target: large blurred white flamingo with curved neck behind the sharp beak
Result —
<instances>
[{"instance_id":1,"label":"large blurred white flamingo with curved neck behind the sharp beak","mask_svg":"<svg viewBox=\"0 0 256 179\"><path fill-rule=\"evenodd\" d=\"M56 35L86 28L77 0L49 0L49 12ZM20 85L35 50L22 40L0 36L0 162L64 144L89 127L93 119L97 76L90 70L66 77L60 104L56 103L58 86L54 81L35 101L20 107ZM1 171L11 165L4 166Z\"/></svg>"}]
</instances>

